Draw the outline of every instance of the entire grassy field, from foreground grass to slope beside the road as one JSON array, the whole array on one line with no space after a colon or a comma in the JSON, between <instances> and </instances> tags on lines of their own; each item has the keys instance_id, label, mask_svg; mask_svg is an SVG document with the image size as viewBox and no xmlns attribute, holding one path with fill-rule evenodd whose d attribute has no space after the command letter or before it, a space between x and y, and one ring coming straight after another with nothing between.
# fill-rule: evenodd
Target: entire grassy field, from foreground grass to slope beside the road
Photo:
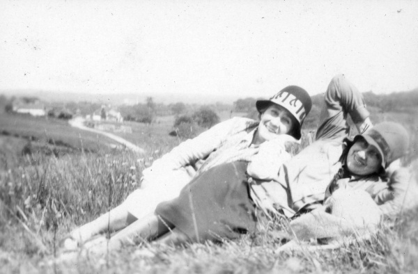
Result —
<instances>
[{"instance_id":1,"label":"entire grassy field, from foreground grass to slope beside the road","mask_svg":"<svg viewBox=\"0 0 418 274\"><path fill-rule=\"evenodd\" d=\"M411 163L418 154L417 113L374 111L372 119L407 127L412 143L403 161L417 170L418 161ZM60 241L71 229L120 204L139 187L141 171L180 142L168 135L169 119L131 125L132 134L121 136L144 147L145 155L111 149L112 140L88 136L59 120L1 115L0 273L417 273L417 209L383 223L369 241L339 250L277 254L282 243L268 229L222 244L167 248L142 243L103 258L56 264ZM304 132L304 144L309 134ZM31 143L50 145L51 150L65 147L63 143L72 150L33 150L22 156L20 147L30 136Z\"/></svg>"}]
</instances>

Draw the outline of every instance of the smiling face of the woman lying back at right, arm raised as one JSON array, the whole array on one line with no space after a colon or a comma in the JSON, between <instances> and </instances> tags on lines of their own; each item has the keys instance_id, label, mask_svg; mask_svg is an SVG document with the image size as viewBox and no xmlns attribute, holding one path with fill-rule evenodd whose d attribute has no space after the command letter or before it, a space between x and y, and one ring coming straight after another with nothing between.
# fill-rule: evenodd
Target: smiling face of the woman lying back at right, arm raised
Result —
<instances>
[{"instance_id":1,"label":"smiling face of the woman lying back at right, arm raised","mask_svg":"<svg viewBox=\"0 0 418 274\"><path fill-rule=\"evenodd\" d=\"M381 168L382 159L376 147L358 138L347 155L347 168L355 175L371 175Z\"/></svg>"}]
</instances>

